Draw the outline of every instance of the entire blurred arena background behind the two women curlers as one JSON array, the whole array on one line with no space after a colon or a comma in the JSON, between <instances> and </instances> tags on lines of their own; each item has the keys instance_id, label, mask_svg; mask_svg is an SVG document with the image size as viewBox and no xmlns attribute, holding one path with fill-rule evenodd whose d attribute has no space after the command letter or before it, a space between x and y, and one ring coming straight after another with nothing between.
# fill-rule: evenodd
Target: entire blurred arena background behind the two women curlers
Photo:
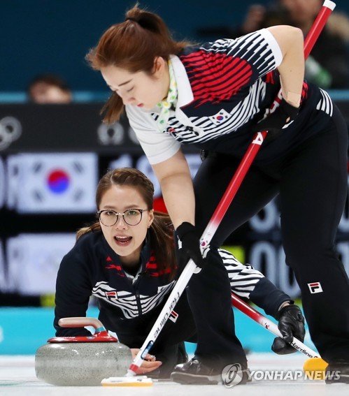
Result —
<instances>
[{"instance_id":1,"label":"entire blurred arena background behind the two women curlers","mask_svg":"<svg viewBox=\"0 0 349 396\"><path fill-rule=\"evenodd\" d=\"M101 123L99 112L109 91L100 73L85 62L90 47L111 24L124 20L134 3L1 0L0 354L34 353L54 335L59 263L73 247L76 230L95 219L94 191L108 168L142 170L155 184L156 208L166 210L127 119L111 126ZM140 6L162 16L175 38L203 42L279 23L298 24L306 35L320 3L144 0ZM288 13L285 7L290 7ZM329 91L349 124L348 1L336 1L335 11L306 73ZM190 148L185 153L194 176L199 153ZM336 246L349 273L347 210ZM277 200L229 238L227 249L292 298L300 297L285 265ZM97 316L94 308L92 299L91 316ZM253 329L251 335L243 330L246 342L251 342ZM258 334L261 331L264 335L263 330ZM249 347L263 344L257 337Z\"/></svg>"}]
</instances>

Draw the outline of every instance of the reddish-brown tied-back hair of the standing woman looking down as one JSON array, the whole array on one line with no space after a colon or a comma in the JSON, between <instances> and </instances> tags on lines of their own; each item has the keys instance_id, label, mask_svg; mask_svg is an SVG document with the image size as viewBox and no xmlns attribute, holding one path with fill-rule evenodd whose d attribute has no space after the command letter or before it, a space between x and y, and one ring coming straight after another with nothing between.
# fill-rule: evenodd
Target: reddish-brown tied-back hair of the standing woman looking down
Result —
<instances>
[{"instance_id":1,"label":"reddish-brown tied-back hair of the standing woman looking down","mask_svg":"<svg viewBox=\"0 0 349 396\"><path fill-rule=\"evenodd\" d=\"M104 32L85 59L98 71L106 66L116 66L130 73L143 71L152 75L157 57L168 61L171 54L178 54L187 45L190 45L187 41L173 40L159 15L136 5L127 11L124 22L113 24ZM122 98L113 92L101 110L103 121L107 124L117 122L123 110Z\"/></svg>"}]
</instances>

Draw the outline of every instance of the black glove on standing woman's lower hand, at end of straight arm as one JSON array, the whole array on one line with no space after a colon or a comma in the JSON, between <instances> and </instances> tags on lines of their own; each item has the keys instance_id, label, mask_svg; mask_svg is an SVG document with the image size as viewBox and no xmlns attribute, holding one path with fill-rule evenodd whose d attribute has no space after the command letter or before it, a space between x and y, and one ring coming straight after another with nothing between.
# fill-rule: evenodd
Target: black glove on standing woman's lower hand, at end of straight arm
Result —
<instances>
[{"instance_id":1,"label":"black glove on standing woman's lower hand, at end of straight arm","mask_svg":"<svg viewBox=\"0 0 349 396\"><path fill-rule=\"evenodd\" d=\"M204 258L201 254L200 240L195 233L195 227L190 223L184 222L178 226L176 232L180 242L182 242L182 247L178 250L180 272L187 265L190 258L198 267L202 268L204 266Z\"/></svg>"}]
</instances>

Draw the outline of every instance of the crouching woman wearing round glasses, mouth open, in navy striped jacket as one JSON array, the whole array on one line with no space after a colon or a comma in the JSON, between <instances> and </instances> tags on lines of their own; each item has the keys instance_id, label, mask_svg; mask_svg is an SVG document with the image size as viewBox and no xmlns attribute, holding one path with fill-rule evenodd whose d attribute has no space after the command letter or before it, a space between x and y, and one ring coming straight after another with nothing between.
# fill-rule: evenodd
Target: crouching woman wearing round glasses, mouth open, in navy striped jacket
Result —
<instances>
[{"instance_id":1,"label":"crouching woman wearing round glasses, mouth open, in navy striped jacket","mask_svg":"<svg viewBox=\"0 0 349 396\"><path fill-rule=\"evenodd\" d=\"M134 168L110 170L101 178L96 193L99 221L78 230L76 245L64 256L57 274L54 322L57 336L90 335L85 328L61 328L58 321L86 316L93 295L98 301L99 320L134 355L138 353L176 279L173 228L166 214L153 210L153 194L150 179ZM190 288L203 299L206 288L212 289L215 309L208 310L207 315L215 318L221 314L222 287L215 280L215 272L222 260L234 293L249 298L276 317L283 335L304 339L304 319L290 296L250 265L239 263L229 252L219 250L218 259L213 251L208 254L212 263L190 281ZM195 280L198 278L201 281ZM185 340L197 342L200 337L201 348L214 342L205 339L205 327L197 324L198 334L184 293L140 373L159 369L161 377L168 377L176 364L186 360ZM231 332L234 335L234 322ZM272 348L276 353L294 351L280 338Z\"/></svg>"}]
</instances>

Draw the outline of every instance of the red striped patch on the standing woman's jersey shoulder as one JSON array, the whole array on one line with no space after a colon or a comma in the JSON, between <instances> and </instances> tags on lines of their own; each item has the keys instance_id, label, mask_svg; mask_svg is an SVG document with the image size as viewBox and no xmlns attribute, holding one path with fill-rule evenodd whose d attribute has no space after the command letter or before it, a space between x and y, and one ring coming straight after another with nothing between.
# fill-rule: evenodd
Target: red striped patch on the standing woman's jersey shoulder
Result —
<instances>
[{"instance_id":1,"label":"red striped patch on the standing woman's jersey shoulder","mask_svg":"<svg viewBox=\"0 0 349 396\"><path fill-rule=\"evenodd\" d=\"M194 101L219 103L234 96L251 78L252 68L247 61L199 50L180 57L192 86Z\"/></svg>"}]
</instances>

